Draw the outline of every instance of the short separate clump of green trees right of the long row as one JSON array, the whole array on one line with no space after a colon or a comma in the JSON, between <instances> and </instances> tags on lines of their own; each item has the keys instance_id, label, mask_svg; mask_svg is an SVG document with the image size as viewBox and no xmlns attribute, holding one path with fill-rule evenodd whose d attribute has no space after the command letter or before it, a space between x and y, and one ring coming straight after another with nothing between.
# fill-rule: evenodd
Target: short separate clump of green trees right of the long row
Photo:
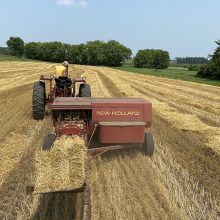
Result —
<instances>
[{"instance_id":1,"label":"short separate clump of green trees right of the long row","mask_svg":"<svg viewBox=\"0 0 220 220\"><path fill-rule=\"evenodd\" d=\"M169 52L164 50L139 50L134 58L134 66L140 68L166 69L169 62Z\"/></svg>"}]
</instances>

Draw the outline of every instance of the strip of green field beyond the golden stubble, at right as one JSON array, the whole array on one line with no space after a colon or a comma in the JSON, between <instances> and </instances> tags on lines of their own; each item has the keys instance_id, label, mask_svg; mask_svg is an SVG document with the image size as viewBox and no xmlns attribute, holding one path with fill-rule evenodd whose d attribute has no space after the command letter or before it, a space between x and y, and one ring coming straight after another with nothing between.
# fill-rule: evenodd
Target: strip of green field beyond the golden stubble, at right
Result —
<instances>
[{"instance_id":1,"label":"strip of green field beyond the golden stubble, at right","mask_svg":"<svg viewBox=\"0 0 220 220\"><path fill-rule=\"evenodd\" d=\"M128 72L134 72L144 75L151 75L151 76L158 76L158 77L165 77L171 79L179 79L184 81L191 81L195 83L203 83L213 86L220 86L219 80L211 80L211 79L204 79L196 76L196 71L188 71L187 68L184 67L169 67L168 69L146 69L146 68L136 68L131 65L125 65L121 67L114 67L114 69L124 70Z\"/></svg>"}]
</instances>

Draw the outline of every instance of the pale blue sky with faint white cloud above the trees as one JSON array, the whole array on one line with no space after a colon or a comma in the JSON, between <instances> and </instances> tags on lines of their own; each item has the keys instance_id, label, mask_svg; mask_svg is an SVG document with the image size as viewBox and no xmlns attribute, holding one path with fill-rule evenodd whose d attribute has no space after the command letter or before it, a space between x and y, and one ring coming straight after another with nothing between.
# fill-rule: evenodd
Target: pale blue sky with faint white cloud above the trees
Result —
<instances>
[{"instance_id":1,"label":"pale blue sky with faint white cloud above the trees","mask_svg":"<svg viewBox=\"0 0 220 220\"><path fill-rule=\"evenodd\" d=\"M219 0L0 0L0 46L115 39L133 50L207 56L220 39Z\"/></svg>"}]
</instances>

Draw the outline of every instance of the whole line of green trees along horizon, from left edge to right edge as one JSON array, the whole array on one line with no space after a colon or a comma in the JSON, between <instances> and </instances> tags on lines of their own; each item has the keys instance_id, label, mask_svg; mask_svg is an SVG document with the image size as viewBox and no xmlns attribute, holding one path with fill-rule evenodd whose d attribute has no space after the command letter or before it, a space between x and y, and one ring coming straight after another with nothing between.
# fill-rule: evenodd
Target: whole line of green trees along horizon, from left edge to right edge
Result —
<instances>
[{"instance_id":1,"label":"whole line of green trees along horizon, from left edge to right edge","mask_svg":"<svg viewBox=\"0 0 220 220\"><path fill-rule=\"evenodd\" d=\"M0 47L0 53L17 57L25 56L49 62L68 60L73 64L121 66L131 58L132 51L115 40L108 42L90 41L85 44L71 45L62 42L30 42L25 44L19 37L10 37L6 42L8 47ZM204 57L177 57L177 63L206 64L191 65L191 70L198 70L197 75L206 78L220 79L220 40L210 60ZM170 56L167 51L145 49L139 50L134 57L134 66L140 68L168 68Z\"/></svg>"}]
</instances>

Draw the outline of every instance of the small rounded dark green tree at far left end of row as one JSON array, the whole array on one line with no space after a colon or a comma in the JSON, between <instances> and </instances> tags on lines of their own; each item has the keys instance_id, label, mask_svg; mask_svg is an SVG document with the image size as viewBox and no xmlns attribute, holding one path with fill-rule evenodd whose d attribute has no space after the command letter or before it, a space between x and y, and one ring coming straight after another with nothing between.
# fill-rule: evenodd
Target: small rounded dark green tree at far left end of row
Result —
<instances>
[{"instance_id":1,"label":"small rounded dark green tree at far left end of row","mask_svg":"<svg viewBox=\"0 0 220 220\"><path fill-rule=\"evenodd\" d=\"M11 55L21 57L24 54L24 41L20 37L10 37L6 42Z\"/></svg>"}]
</instances>

